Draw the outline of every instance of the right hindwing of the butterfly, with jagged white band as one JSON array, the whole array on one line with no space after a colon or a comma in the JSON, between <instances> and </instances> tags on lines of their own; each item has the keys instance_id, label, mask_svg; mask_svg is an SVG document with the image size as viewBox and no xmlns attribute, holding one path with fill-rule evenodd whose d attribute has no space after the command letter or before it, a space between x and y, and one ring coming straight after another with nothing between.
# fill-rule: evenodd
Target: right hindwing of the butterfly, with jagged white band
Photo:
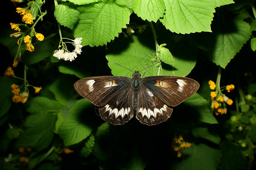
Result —
<instances>
[{"instance_id":1,"label":"right hindwing of the butterfly, with jagged white band","mask_svg":"<svg viewBox=\"0 0 256 170\"><path fill-rule=\"evenodd\" d=\"M159 100L148 88L140 87L139 103L136 111L136 118L146 125L157 125L164 122L171 116L172 108Z\"/></svg>"}]
</instances>

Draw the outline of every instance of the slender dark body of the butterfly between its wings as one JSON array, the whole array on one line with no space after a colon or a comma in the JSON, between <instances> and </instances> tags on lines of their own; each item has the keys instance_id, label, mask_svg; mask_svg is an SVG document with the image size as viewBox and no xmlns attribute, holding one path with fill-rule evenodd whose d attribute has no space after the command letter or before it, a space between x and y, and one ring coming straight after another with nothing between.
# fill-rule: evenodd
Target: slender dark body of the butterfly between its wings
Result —
<instances>
[{"instance_id":1,"label":"slender dark body of the butterfly between its wings","mask_svg":"<svg viewBox=\"0 0 256 170\"><path fill-rule=\"evenodd\" d=\"M133 74L133 79L131 79L133 83L133 109L136 110L139 103L139 84L141 83L141 74L138 71L135 71Z\"/></svg>"}]
</instances>

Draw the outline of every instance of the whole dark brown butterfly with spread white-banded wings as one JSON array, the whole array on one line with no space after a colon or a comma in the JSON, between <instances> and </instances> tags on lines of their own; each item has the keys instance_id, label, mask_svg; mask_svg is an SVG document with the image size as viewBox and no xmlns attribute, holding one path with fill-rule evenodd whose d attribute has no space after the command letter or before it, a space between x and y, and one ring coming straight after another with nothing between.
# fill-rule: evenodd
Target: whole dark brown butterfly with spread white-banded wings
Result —
<instances>
[{"instance_id":1,"label":"whole dark brown butterfly with spread white-banded wings","mask_svg":"<svg viewBox=\"0 0 256 170\"><path fill-rule=\"evenodd\" d=\"M146 125L158 125L172 114L172 108L191 97L199 83L181 76L147 76L140 71L126 76L91 76L78 80L74 87L99 108L106 122L123 125L134 113ZM143 77L143 76L142 76Z\"/></svg>"}]
</instances>

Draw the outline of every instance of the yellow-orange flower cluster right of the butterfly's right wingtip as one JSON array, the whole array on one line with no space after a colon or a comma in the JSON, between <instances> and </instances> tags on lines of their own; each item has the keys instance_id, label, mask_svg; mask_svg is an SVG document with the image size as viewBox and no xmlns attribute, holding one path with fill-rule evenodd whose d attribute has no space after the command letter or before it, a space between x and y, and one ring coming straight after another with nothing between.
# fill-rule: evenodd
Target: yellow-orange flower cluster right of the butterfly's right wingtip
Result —
<instances>
[{"instance_id":1,"label":"yellow-orange flower cluster right of the butterfly's right wingtip","mask_svg":"<svg viewBox=\"0 0 256 170\"><path fill-rule=\"evenodd\" d=\"M211 90L215 90L216 84L212 80L209 80L208 84ZM228 92L230 92L233 89L234 89L233 84L226 86L226 90ZM228 105L233 104L233 100L229 99L226 95L222 94L220 89L219 91L220 92L218 92L217 90L210 92L210 99L212 100L211 108L213 109L213 112L216 115L226 114L227 112L226 104Z\"/></svg>"}]
</instances>

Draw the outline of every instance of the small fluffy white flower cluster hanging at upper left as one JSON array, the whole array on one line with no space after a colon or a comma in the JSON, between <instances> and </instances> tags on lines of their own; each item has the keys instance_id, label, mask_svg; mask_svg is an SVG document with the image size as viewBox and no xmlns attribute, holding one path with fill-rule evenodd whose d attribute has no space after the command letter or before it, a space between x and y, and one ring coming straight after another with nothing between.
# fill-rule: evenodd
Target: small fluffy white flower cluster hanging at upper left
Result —
<instances>
[{"instance_id":1,"label":"small fluffy white flower cluster hanging at upper left","mask_svg":"<svg viewBox=\"0 0 256 170\"><path fill-rule=\"evenodd\" d=\"M53 52L53 56L56 57L57 59L64 59L65 61L73 61L76 57L77 54L81 54L82 52L82 38L76 38L75 40L72 40L72 45L75 46L75 50L73 52L69 52L67 49L59 49L55 50Z\"/></svg>"}]
</instances>

